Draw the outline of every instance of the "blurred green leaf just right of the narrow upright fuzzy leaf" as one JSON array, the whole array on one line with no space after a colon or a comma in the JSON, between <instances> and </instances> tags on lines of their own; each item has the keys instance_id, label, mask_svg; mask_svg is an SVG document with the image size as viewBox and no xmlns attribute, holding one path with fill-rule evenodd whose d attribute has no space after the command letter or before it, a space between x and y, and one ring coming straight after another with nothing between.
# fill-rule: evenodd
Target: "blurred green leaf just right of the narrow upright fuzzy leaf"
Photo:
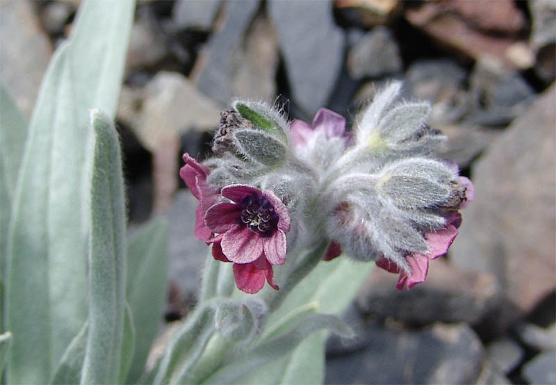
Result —
<instances>
[{"instance_id":1,"label":"blurred green leaf just right of the narrow upright fuzzy leaf","mask_svg":"<svg viewBox=\"0 0 556 385\"><path fill-rule=\"evenodd\" d=\"M135 231L127 241L126 300L135 328L135 353L127 383L142 375L161 323L166 298L168 223L158 218Z\"/></svg>"}]
</instances>

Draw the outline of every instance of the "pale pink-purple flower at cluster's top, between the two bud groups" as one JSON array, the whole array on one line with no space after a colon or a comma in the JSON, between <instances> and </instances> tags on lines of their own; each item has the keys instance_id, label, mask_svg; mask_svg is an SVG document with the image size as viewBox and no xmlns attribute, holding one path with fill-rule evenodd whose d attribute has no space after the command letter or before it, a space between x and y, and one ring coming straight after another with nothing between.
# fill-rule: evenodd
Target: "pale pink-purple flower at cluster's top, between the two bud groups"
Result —
<instances>
[{"instance_id":1,"label":"pale pink-purple flower at cluster's top, between the two bud groups","mask_svg":"<svg viewBox=\"0 0 556 385\"><path fill-rule=\"evenodd\" d=\"M325 133L327 138L343 137L346 144L350 140L350 137L345 135L345 118L327 108L317 111L311 126L297 119L294 119L290 126L290 135L295 147L304 145L317 132Z\"/></svg>"}]
</instances>

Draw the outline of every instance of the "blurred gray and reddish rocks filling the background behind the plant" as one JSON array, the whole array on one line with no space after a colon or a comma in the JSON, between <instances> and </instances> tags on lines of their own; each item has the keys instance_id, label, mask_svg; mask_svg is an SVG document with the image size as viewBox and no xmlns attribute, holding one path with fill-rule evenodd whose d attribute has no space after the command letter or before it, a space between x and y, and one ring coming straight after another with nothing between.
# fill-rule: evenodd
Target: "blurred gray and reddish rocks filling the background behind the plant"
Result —
<instances>
[{"instance_id":1,"label":"blurred gray and reddish rocks filling the background behind the plant","mask_svg":"<svg viewBox=\"0 0 556 385\"><path fill-rule=\"evenodd\" d=\"M0 0L0 79L28 116L79 3ZM247 97L349 125L401 79L475 202L425 284L400 293L373 271L345 313L357 338L328 341L326 382L556 384L555 72L556 0L140 1L117 126L130 227L171 222L161 320L195 305L206 246L178 170L184 151L210 155L220 110Z\"/></svg>"}]
</instances>

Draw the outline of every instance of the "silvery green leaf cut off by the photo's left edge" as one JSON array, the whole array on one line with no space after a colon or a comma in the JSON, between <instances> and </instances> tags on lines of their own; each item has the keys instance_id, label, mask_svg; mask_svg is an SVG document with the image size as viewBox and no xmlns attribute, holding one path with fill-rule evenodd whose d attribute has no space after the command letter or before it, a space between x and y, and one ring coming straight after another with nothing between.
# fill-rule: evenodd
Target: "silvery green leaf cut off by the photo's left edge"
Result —
<instances>
[{"instance_id":1,"label":"silvery green leaf cut off by the photo's left edge","mask_svg":"<svg viewBox=\"0 0 556 385\"><path fill-rule=\"evenodd\" d=\"M8 227L26 138L26 119L0 83L0 309L4 308ZM0 316L0 333L4 331L3 325L3 316Z\"/></svg>"}]
</instances>

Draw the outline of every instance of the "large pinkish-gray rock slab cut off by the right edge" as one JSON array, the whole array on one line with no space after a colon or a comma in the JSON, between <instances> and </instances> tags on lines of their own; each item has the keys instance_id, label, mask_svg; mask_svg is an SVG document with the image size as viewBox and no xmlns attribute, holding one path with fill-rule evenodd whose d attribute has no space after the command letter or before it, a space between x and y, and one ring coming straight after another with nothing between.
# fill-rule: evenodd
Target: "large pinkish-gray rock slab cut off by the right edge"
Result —
<instances>
[{"instance_id":1,"label":"large pinkish-gray rock slab cut off by the right edge","mask_svg":"<svg viewBox=\"0 0 556 385\"><path fill-rule=\"evenodd\" d=\"M489 147L472 170L475 200L463 211L450 260L498 277L511 302L498 314L531 311L555 289L556 85Z\"/></svg>"}]
</instances>

